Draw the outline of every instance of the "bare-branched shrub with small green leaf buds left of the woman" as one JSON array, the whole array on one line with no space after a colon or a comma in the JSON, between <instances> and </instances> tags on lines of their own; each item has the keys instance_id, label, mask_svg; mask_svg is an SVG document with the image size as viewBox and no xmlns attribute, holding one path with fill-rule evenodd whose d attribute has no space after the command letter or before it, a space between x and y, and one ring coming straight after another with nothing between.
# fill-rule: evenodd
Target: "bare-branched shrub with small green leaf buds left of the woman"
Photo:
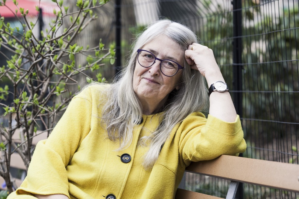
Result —
<instances>
[{"instance_id":1,"label":"bare-branched shrub with small green leaf buds left of the woman","mask_svg":"<svg viewBox=\"0 0 299 199\"><path fill-rule=\"evenodd\" d=\"M28 165L34 149L33 137L38 130L49 133L53 128L57 115L65 110L73 97L72 88L76 85L76 90L80 88L76 77L85 76L88 83L94 79L105 82L97 71L104 59L110 59L111 64L114 62L114 46L105 48L101 39L93 48L74 43L84 28L97 19L93 9L108 0L77 0L77 11L71 13L63 0L52 1L57 5L57 10L53 11L55 18L46 30L40 30L39 36L34 33L38 19L30 21L29 11L19 7L15 0L17 9L11 11L21 29L5 21L4 17L0 18L0 55L6 61L0 66L0 107L4 111L1 117L8 118L7 124L0 125L0 175L9 192L13 191L9 172L11 154L19 153ZM8 8L5 0L0 0L0 6ZM36 6L36 10L40 8ZM64 27L69 21L71 25ZM79 54L86 57L86 65L76 65ZM88 71L95 77L88 76ZM21 132L19 145L12 141L17 130Z\"/></svg>"}]
</instances>

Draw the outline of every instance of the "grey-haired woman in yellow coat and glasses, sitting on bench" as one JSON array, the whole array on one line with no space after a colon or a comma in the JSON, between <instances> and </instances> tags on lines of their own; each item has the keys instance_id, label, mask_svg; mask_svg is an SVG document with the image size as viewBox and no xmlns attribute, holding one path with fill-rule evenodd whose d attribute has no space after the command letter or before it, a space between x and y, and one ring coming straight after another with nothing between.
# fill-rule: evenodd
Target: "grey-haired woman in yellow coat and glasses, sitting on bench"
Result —
<instances>
[{"instance_id":1,"label":"grey-haired woman in yellow coat and glasses, sitting on bench","mask_svg":"<svg viewBox=\"0 0 299 199\"><path fill-rule=\"evenodd\" d=\"M139 35L119 81L73 98L8 198L174 198L192 161L245 149L212 50L161 20Z\"/></svg>"}]
</instances>

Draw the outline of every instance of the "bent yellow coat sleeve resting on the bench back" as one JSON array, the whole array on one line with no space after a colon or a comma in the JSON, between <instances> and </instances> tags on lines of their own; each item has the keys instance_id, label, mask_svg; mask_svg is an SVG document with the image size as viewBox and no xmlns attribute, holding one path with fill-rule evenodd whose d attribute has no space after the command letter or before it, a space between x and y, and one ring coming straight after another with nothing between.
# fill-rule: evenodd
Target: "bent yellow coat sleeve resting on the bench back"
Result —
<instances>
[{"instance_id":1,"label":"bent yellow coat sleeve resting on the bench back","mask_svg":"<svg viewBox=\"0 0 299 199\"><path fill-rule=\"evenodd\" d=\"M224 122L202 113L192 113L179 126L179 150L185 166L191 161L211 160L222 154L239 155L246 150L239 116L235 122Z\"/></svg>"}]
</instances>

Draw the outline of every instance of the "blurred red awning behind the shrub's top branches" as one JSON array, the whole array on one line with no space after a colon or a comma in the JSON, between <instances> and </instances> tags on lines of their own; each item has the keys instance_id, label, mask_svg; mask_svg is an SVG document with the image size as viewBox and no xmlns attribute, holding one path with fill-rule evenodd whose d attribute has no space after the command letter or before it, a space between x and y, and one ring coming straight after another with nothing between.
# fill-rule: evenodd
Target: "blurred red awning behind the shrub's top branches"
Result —
<instances>
[{"instance_id":1,"label":"blurred red awning behind the shrub's top branches","mask_svg":"<svg viewBox=\"0 0 299 199\"><path fill-rule=\"evenodd\" d=\"M53 10L59 10L59 7L56 3L49 1L49 2L39 2L37 1L30 1L30 0L17 0L18 7L24 8L24 12L28 9L28 15L36 16L38 12L36 10L36 6L39 6L43 9L43 15L50 15L54 16ZM5 18L13 18L15 17L15 9L17 6L12 2L12 0L7 0L5 5L0 6L0 16ZM17 16L21 16L21 13L18 11Z\"/></svg>"}]
</instances>

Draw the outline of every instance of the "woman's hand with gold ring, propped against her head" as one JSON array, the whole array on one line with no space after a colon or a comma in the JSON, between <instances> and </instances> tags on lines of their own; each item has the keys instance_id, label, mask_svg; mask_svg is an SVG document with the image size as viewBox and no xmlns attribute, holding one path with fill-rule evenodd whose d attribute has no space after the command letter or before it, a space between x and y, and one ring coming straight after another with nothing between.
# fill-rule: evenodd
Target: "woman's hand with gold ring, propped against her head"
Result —
<instances>
[{"instance_id":1,"label":"woman's hand with gold ring, propped against her head","mask_svg":"<svg viewBox=\"0 0 299 199\"><path fill-rule=\"evenodd\" d=\"M192 69L199 70L201 75L221 73L215 60L213 50L198 43L192 43L185 50L185 59Z\"/></svg>"}]
</instances>

